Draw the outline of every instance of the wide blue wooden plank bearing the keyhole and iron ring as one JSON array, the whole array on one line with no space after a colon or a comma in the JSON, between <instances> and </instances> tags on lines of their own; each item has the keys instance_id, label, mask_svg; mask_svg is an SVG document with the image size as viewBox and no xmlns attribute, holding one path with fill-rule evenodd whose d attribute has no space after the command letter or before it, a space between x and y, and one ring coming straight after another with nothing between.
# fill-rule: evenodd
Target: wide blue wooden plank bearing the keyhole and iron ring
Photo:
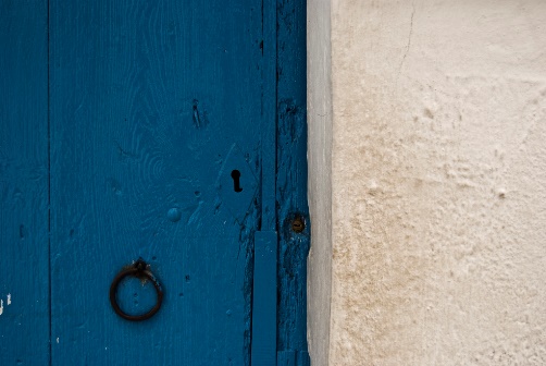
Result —
<instances>
[{"instance_id":1,"label":"wide blue wooden plank bearing the keyhole and iron ring","mask_svg":"<svg viewBox=\"0 0 546 366\"><path fill-rule=\"evenodd\" d=\"M261 41L258 0L50 0L53 365L249 364Z\"/></svg>"}]
</instances>

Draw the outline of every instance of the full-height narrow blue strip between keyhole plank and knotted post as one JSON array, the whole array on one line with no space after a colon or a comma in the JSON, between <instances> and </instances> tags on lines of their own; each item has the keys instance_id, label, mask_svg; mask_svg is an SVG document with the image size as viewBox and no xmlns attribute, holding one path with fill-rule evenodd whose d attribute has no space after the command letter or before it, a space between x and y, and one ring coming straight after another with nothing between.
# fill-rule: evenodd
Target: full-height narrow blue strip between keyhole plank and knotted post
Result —
<instances>
[{"instance_id":1,"label":"full-height narrow blue strip between keyhole plank and knotted post","mask_svg":"<svg viewBox=\"0 0 546 366\"><path fill-rule=\"evenodd\" d=\"M263 7L261 221L255 239L251 364L276 365L276 2Z\"/></svg>"}]
</instances>

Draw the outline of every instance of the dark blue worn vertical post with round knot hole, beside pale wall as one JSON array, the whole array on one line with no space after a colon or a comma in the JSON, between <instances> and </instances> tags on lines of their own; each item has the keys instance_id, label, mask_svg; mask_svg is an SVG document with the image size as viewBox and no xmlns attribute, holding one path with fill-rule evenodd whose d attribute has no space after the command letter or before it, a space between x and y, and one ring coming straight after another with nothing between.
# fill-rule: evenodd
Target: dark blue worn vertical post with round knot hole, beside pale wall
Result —
<instances>
[{"instance_id":1,"label":"dark blue worn vertical post with round knot hole, beside pale wall","mask_svg":"<svg viewBox=\"0 0 546 366\"><path fill-rule=\"evenodd\" d=\"M278 365L307 365L307 205L306 1L277 0L277 181ZM306 229L291 231L301 216ZM291 365L291 364L289 364Z\"/></svg>"}]
</instances>

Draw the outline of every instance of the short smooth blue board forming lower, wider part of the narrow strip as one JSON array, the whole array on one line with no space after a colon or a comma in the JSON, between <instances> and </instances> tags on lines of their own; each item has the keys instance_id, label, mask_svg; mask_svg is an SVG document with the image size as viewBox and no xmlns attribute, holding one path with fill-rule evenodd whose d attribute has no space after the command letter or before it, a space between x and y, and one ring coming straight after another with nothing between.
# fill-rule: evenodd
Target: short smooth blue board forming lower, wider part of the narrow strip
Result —
<instances>
[{"instance_id":1,"label":"short smooth blue board forming lower, wider part of the narrow strip","mask_svg":"<svg viewBox=\"0 0 546 366\"><path fill-rule=\"evenodd\" d=\"M277 233L257 232L252 294L252 365L276 365L276 256Z\"/></svg>"}]
</instances>

